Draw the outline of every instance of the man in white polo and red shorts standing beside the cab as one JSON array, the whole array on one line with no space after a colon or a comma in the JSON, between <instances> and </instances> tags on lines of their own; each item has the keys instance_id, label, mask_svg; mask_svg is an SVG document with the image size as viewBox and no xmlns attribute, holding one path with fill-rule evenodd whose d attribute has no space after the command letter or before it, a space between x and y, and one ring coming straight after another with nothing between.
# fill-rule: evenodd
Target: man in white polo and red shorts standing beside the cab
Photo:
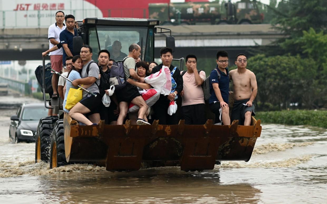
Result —
<instances>
[{"instance_id":1,"label":"man in white polo and red shorts standing beside the cab","mask_svg":"<svg viewBox=\"0 0 327 204\"><path fill-rule=\"evenodd\" d=\"M63 11L57 11L56 12L56 23L49 26L48 29L48 39L49 39L49 49L51 49L53 46L56 46L60 43L60 33L64 29L66 29L66 25L63 23L65 19L65 14ZM51 52L50 54L50 60L51 60L51 68L55 71L60 72L62 70L62 48ZM52 71L51 71L52 72ZM53 95L51 98L58 98L58 75L54 72L52 72L52 89L53 89Z\"/></svg>"}]
</instances>

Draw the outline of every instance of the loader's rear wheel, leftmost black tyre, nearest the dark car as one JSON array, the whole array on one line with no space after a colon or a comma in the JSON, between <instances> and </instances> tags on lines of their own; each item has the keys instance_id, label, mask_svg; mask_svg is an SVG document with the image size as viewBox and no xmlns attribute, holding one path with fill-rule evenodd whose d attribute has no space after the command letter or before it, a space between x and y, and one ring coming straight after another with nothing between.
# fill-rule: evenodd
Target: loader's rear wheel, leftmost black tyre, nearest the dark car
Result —
<instances>
[{"instance_id":1,"label":"loader's rear wheel, leftmost black tyre, nearest the dark car","mask_svg":"<svg viewBox=\"0 0 327 204\"><path fill-rule=\"evenodd\" d=\"M51 133L57 120L57 116L48 116L40 119L35 134L35 163L40 161L49 162Z\"/></svg>"}]
</instances>

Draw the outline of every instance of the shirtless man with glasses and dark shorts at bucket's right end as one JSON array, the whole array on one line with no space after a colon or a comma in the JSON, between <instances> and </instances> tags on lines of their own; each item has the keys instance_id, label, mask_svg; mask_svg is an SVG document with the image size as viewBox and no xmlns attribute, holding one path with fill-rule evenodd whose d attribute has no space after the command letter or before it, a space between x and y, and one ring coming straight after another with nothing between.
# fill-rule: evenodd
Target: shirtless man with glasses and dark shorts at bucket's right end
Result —
<instances>
[{"instance_id":1,"label":"shirtless man with glasses and dark shorts at bucket's right end","mask_svg":"<svg viewBox=\"0 0 327 204\"><path fill-rule=\"evenodd\" d=\"M229 78L233 81L234 105L232 109L232 121L238 120L239 125L250 125L251 116L255 116L254 102L257 92L257 80L252 71L248 70L247 57L238 54L235 57L237 69L229 72Z\"/></svg>"}]
</instances>

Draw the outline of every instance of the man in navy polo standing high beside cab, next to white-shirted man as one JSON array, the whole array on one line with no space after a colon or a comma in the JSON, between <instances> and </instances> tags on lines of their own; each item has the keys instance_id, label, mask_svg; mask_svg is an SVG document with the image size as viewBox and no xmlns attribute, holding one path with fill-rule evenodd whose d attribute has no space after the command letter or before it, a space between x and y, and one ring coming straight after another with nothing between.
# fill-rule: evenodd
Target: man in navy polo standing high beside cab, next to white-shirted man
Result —
<instances>
[{"instance_id":1,"label":"man in navy polo standing high beside cab, next to white-shirted man","mask_svg":"<svg viewBox=\"0 0 327 204\"><path fill-rule=\"evenodd\" d=\"M71 14L65 16L66 29L61 31L59 39L64 52L62 54L62 64L65 65L66 56L73 57L79 55L73 51L73 38L77 36L77 29L75 28L75 17Z\"/></svg>"}]
</instances>

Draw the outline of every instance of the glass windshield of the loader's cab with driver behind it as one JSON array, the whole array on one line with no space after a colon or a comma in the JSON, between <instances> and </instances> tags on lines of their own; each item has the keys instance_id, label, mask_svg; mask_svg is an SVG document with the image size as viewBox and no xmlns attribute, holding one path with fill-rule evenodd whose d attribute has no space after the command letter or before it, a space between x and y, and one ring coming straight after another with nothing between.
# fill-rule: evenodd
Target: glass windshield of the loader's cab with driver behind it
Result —
<instances>
[{"instance_id":1,"label":"glass windshield of the loader's cab with driver behind it","mask_svg":"<svg viewBox=\"0 0 327 204\"><path fill-rule=\"evenodd\" d=\"M97 32L96 32L97 31ZM140 26L101 26L89 28L89 44L93 48L93 60L97 61L99 50L106 49L110 58L123 60L129 53L129 45L137 43L141 47L141 59L153 59L153 29ZM142 45L142 46L141 46ZM100 46L100 48L99 48Z\"/></svg>"}]
</instances>

